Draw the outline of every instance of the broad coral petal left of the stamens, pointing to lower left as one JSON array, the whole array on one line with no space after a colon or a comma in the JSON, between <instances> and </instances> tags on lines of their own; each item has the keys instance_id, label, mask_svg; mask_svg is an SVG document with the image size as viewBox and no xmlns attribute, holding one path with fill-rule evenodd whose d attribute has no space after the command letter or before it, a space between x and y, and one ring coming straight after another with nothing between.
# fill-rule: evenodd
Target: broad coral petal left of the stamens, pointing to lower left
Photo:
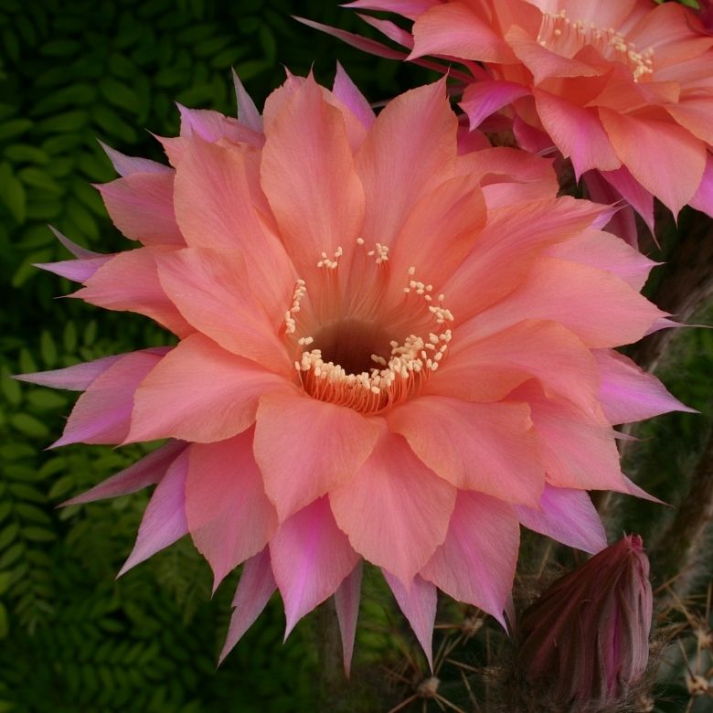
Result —
<instances>
[{"instance_id":1,"label":"broad coral petal left of the stamens, pointing to lower left","mask_svg":"<svg viewBox=\"0 0 713 713\"><path fill-rule=\"evenodd\" d=\"M254 423L263 394L292 388L286 379L230 354L207 336L190 335L137 389L126 442L224 441Z\"/></svg>"}]
</instances>

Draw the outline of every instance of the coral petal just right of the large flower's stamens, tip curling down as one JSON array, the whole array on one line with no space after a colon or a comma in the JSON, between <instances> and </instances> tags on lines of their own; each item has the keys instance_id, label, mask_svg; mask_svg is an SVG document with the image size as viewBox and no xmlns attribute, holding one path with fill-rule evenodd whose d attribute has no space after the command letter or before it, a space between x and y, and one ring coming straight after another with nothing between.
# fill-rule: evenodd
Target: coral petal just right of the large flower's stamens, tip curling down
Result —
<instances>
[{"instance_id":1,"label":"coral petal just right of the large flower's stamens, tip curling down","mask_svg":"<svg viewBox=\"0 0 713 713\"><path fill-rule=\"evenodd\" d=\"M583 409L596 405L599 372L591 350L562 325L526 320L484 339L469 335L463 325L456 335L424 393L499 401L537 378L543 388Z\"/></svg>"}]
</instances>

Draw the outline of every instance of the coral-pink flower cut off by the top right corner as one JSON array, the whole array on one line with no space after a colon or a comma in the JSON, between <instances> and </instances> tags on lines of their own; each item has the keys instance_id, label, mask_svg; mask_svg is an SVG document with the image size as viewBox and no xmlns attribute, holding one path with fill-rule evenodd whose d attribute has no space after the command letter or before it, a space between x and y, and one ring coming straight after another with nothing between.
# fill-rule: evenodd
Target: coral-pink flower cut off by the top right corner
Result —
<instances>
[{"instance_id":1,"label":"coral-pink flower cut off by the top right corner","mask_svg":"<svg viewBox=\"0 0 713 713\"><path fill-rule=\"evenodd\" d=\"M406 45L409 59L464 62L473 81L461 106L472 128L509 107L518 144L533 152L554 144L596 200L623 197L652 228L652 196L675 214L690 204L713 215L707 8L699 17L677 3L650 0L357 0L349 6L414 20L411 35L367 18ZM635 239L633 215L621 230Z\"/></svg>"}]
</instances>

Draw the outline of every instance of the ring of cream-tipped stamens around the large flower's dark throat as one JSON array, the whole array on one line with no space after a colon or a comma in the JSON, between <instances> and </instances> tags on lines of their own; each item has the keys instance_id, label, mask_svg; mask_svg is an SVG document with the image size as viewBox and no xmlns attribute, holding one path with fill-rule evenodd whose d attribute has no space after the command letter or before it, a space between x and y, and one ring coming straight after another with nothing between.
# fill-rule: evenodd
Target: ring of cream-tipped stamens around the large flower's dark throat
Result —
<instances>
[{"instance_id":1,"label":"ring of cream-tipped stamens around the large flower's dark throat","mask_svg":"<svg viewBox=\"0 0 713 713\"><path fill-rule=\"evenodd\" d=\"M357 243L363 245L364 240L357 239ZM335 252L335 260L331 261L323 252L317 267L335 270L342 254L343 251L339 248ZM375 250L367 251L367 255L374 257L376 263L382 265L388 261L388 247L376 243ZM358 374L348 373L344 367L333 361L325 361L321 349L302 351L294 360L294 368L307 393L315 399L348 406L363 413L374 413L407 399L421 388L438 369L448 350L452 330L444 325L453 321L453 315L442 304L444 296L438 295L438 304L434 304L431 295L433 286L416 280L414 275L415 268L411 267L404 293L415 293L423 298L438 329L431 331L425 339L410 334L403 343L391 341L388 357L372 354L370 358L375 366ZM293 305L285 313L287 335L293 335L295 332L295 314L300 311L300 302L305 293L304 281L297 281ZM298 346L309 346L313 342L312 336L303 336L297 340Z\"/></svg>"}]
</instances>

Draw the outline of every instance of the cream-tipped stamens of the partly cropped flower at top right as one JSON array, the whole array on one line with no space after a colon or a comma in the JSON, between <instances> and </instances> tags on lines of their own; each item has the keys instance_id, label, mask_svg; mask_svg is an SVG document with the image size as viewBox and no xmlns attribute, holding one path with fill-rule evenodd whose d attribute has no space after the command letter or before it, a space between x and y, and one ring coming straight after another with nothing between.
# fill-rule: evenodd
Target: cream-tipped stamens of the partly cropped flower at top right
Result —
<instances>
[{"instance_id":1,"label":"cream-tipped stamens of the partly cropped flower at top right","mask_svg":"<svg viewBox=\"0 0 713 713\"><path fill-rule=\"evenodd\" d=\"M581 48L589 45L602 57L625 65L634 81L642 80L654 71L653 48L639 52L633 42L627 43L626 37L613 27L602 28L584 20L570 20L564 10L542 14L537 42L567 58L574 57Z\"/></svg>"}]
</instances>

